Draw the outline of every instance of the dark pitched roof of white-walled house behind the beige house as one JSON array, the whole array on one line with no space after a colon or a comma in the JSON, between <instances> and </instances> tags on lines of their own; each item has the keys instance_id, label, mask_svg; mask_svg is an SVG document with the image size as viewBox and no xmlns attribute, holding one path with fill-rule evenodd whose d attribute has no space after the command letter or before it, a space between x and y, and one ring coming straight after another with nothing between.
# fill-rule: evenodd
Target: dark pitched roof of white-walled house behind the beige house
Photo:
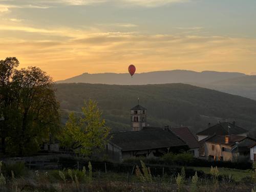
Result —
<instances>
[{"instance_id":1,"label":"dark pitched roof of white-walled house behind the beige house","mask_svg":"<svg viewBox=\"0 0 256 192\"><path fill-rule=\"evenodd\" d=\"M197 135L239 135L247 132L248 130L235 124L229 122L220 122L202 132L197 133Z\"/></svg>"}]
</instances>

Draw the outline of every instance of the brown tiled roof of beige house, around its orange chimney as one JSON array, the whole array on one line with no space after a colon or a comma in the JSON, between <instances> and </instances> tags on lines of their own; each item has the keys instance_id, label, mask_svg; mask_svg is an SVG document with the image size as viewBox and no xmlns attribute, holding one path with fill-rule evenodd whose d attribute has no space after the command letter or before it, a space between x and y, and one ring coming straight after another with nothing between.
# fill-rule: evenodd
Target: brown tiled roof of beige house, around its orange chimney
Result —
<instances>
[{"instance_id":1,"label":"brown tiled roof of beige house, around its orange chimney","mask_svg":"<svg viewBox=\"0 0 256 192\"><path fill-rule=\"evenodd\" d=\"M234 144L236 144L236 142L241 142L242 140L247 138L245 136L229 135L229 141L228 143L225 143L225 137L226 136L223 135L215 135L214 137L207 139L205 142L233 146Z\"/></svg>"}]
</instances>

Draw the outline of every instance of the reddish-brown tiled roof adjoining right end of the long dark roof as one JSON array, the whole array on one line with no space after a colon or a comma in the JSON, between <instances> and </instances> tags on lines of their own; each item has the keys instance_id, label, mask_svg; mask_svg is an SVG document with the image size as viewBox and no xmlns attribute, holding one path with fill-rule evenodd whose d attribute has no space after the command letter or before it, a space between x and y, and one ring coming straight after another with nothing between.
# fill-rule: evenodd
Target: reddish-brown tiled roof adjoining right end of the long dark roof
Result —
<instances>
[{"instance_id":1,"label":"reddish-brown tiled roof adjoining right end of the long dark roof","mask_svg":"<svg viewBox=\"0 0 256 192\"><path fill-rule=\"evenodd\" d=\"M179 138L181 138L189 148L199 148L200 144L194 137L194 135L190 132L188 127L180 127L180 128L172 128L172 132L174 132Z\"/></svg>"}]
</instances>

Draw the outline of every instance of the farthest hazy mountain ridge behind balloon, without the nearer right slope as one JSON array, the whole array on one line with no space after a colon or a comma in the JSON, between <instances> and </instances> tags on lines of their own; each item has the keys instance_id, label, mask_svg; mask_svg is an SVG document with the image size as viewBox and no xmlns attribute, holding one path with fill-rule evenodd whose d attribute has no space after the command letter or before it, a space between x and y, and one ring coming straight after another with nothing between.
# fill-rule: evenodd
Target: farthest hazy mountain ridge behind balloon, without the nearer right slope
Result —
<instances>
[{"instance_id":1,"label":"farthest hazy mountain ridge behind balloon, without the nearer right slope","mask_svg":"<svg viewBox=\"0 0 256 192\"><path fill-rule=\"evenodd\" d=\"M83 73L81 75L57 81L57 83L102 83L102 84L164 84L164 83L209 83L236 77L246 76L243 73L231 72L216 72L216 71L186 71L186 70L173 70L173 71L155 71L148 73L137 73L131 78L129 73L98 73L89 74Z\"/></svg>"}]
</instances>

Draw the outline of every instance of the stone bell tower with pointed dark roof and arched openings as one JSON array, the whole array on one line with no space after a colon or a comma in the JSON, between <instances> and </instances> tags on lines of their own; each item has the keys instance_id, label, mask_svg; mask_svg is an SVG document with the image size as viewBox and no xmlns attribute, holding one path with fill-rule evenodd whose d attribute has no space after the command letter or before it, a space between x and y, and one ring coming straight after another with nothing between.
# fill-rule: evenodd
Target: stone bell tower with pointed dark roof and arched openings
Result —
<instances>
[{"instance_id":1,"label":"stone bell tower with pointed dark roof and arched openings","mask_svg":"<svg viewBox=\"0 0 256 192\"><path fill-rule=\"evenodd\" d=\"M131 126L133 131L140 131L146 126L146 108L139 104L131 109Z\"/></svg>"}]
</instances>

